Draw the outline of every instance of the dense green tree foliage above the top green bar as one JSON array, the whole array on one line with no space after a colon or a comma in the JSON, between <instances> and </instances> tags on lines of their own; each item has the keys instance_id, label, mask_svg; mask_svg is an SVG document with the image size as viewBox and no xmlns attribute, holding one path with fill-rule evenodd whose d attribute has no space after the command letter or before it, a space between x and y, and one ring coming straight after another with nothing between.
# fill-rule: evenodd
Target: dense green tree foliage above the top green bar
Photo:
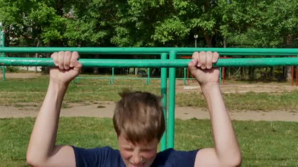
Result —
<instances>
[{"instance_id":1,"label":"dense green tree foliage above the top green bar","mask_svg":"<svg viewBox=\"0 0 298 167\"><path fill-rule=\"evenodd\" d=\"M295 0L0 0L11 44L294 47ZM297 41L297 40L296 40Z\"/></svg>"}]
</instances>

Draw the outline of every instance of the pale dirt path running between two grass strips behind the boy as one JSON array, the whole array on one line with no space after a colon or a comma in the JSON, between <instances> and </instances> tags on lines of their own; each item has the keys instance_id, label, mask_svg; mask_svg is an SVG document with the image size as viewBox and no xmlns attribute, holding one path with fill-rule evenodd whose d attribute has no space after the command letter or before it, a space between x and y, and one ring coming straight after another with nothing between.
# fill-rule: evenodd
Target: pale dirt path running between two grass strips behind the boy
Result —
<instances>
[{"instance_id":1,"label":"pale dirt path running between two grass strips behind the boy","mask_svg":"<svg viewBox=\"0 0 298 167\"><path fill-rule=\"evenodd\" d=\"M104 102L101 104L72 104L70 108L61 110L62 117L109 117L113 116L115 103ZM0 118L21 118L36 117L38 107L13 107L0 106ZM229 111L233 120L254 120L254 121L298 121L297 111L252 111L252 110L233 110ZM199 107L176 107L175 118L183 120L197 118L209 119L208 111Z\"/></svg>"}]
</instances>

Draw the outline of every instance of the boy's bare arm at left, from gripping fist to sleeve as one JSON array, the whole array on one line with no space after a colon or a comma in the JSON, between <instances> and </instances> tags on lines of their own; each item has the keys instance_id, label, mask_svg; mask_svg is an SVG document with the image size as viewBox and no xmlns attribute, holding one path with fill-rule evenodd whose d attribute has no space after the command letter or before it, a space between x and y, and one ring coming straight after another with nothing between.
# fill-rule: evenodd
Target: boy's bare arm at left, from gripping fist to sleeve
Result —
<instances>
[{"instance_id":1,"label":"boy's bare arm at left, from gripping fist to sleeve","mask_svg":"<svg viewBox=\"0 0 298 167\"><path fill-rule=\"evenodd\" d=\"M54 62L58 63L59 69L50 70L47 95L32 130L26 161L30 166L75 167L73 148L56 146L55 141L63 97L69 82L79 73L81 64L75 61L78 54L72 56L70 52L66 52L65 55L64 52L59 52L59 58L58 53L53 55ZM70 62L73 64L70 65Z\"/></svg>"}]
</instances>

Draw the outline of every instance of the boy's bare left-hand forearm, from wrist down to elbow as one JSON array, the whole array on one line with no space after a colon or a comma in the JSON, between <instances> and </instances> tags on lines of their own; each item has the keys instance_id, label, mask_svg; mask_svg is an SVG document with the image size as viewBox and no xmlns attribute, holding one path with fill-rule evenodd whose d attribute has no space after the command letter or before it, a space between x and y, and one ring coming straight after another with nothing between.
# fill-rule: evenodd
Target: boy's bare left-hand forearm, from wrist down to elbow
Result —
<instances>
[{"instance_id":1,"label":"boy's bare left-hand forearm, from wrist down to elbow","mask_svg":"<svg viewBox=\"0 0 298 167\"><path fill-rule=\"evenodd\" d=\"M27 158L46 161L55 146L59 114L67 86L50 81L47 95L36 118L30 137Z\"/></svg>"}]
</instances>

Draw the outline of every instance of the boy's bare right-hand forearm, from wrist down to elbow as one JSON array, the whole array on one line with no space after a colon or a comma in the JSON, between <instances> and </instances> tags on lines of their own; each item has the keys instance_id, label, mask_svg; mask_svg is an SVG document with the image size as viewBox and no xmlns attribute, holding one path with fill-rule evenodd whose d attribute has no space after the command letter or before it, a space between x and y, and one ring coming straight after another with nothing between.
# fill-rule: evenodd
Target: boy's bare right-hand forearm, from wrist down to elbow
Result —
<instances>
[{"instance_id":1,"label":"boy's bare right-hand forearm, from wrist down to elbow","mask_svg":"<svg viewBox=\"0 0 298 167\"><path fill-rule=\"evenodd\" d=\"M202 86L202 92L210 113L217 157L221 162L229 161L231 158L241 158L240 148L225 108L219 83Z\"/></svg>"}]
</instances>

